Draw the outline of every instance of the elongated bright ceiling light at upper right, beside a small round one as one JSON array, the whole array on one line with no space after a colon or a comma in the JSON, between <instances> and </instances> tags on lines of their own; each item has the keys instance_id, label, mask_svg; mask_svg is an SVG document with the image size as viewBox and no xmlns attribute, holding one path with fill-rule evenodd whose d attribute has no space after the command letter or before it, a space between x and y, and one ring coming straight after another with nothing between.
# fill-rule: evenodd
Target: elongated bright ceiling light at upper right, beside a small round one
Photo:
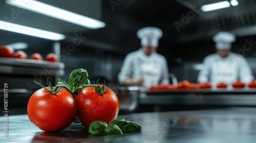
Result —
<instances>
[{"instance_id":1,"label":"elongated bright ceiling light at upper right, beside a small round one","mask_svg":"<svg viewBox=\"0 0 256 143\"><path fill-rule=\"evenodd\" d=\"M223 8L228 8L228 7L230 7L230 3L228 1L224 1L224 2L219 2L219 3L204 5L201 7L201 10L204 12L207 12L207 11L223 9Z\"/></svg>"}]
</instances>

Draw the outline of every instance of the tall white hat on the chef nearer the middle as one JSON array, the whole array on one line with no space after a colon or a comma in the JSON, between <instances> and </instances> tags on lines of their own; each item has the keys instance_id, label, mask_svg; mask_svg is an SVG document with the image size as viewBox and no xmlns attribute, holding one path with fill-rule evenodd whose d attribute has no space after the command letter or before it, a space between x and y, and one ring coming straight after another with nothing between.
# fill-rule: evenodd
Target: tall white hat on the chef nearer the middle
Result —
<instances>
[{"instance_id":1,"label":"tall white hat on the chef nearer the middle","mask_svg":"<svg viewBox=\"0 0 256 143\"><path fill-rule=\"evenodd\" d=\"M163 32L156 27L141 28L137 32L137 36L140 39L141 45L144 46L158 46L158 40L162 37Z\"/></svg>"}]
</instances>

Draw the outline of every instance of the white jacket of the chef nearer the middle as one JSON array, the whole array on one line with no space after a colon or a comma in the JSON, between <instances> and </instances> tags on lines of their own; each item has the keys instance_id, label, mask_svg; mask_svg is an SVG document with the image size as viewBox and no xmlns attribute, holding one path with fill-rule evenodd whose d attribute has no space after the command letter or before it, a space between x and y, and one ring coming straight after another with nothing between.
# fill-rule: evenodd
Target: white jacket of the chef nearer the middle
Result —
<instances>
[{"instance_id":1,"label":"white jacket of the chef nearer the middle","mask_svg":"<svg viewBox=\"0 0 256 143\"><path fill-rule=\"evenodd\" d=\"M133 80L143 78L143 87L148 88L159 83L168 84L168 73L167 61L164 56L156 52L147 56L140 49L127 54L118 74L118 81L123 84L127 78Z\"/></svg>"}]
</instances>

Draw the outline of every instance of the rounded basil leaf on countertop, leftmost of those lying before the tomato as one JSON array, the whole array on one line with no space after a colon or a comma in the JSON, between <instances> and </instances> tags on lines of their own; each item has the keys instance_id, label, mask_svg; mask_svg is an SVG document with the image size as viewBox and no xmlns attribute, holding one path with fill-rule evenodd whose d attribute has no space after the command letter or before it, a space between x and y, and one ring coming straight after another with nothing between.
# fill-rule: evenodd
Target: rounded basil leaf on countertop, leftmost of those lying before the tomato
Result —
<instances>
[{"instance_id":1,"label":"rounded basil leaf on countertop, leftmost of those lying before the tomato","mask_svg":"<svg viewBox=\"0 0 256 143\"><path fill-rule=\"evenodd\" d=\"M88 127L90 134L103 134L108 125L104 121L94 121Z\"/></svg>"}]
</instances>

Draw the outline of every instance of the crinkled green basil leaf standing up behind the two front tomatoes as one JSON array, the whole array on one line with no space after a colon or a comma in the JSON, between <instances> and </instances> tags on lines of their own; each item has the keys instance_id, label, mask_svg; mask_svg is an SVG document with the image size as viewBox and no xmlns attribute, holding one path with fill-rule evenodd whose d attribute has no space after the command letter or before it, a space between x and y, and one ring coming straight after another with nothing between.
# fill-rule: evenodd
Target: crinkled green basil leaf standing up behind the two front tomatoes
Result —
<instances>
[{"instance_id":1,"label":"crinkled green basil leaf standing up behind the two front tomatoes","mask_svg":"<svg viewBox=\"0 0 256 143\"><path fill-rule=\"evenodd\" d=\"M76 88L84 84L91 84L87 70L83 68L73 70L69 76L69 86L76 90Z\"/></svg>"}]
</instances>

